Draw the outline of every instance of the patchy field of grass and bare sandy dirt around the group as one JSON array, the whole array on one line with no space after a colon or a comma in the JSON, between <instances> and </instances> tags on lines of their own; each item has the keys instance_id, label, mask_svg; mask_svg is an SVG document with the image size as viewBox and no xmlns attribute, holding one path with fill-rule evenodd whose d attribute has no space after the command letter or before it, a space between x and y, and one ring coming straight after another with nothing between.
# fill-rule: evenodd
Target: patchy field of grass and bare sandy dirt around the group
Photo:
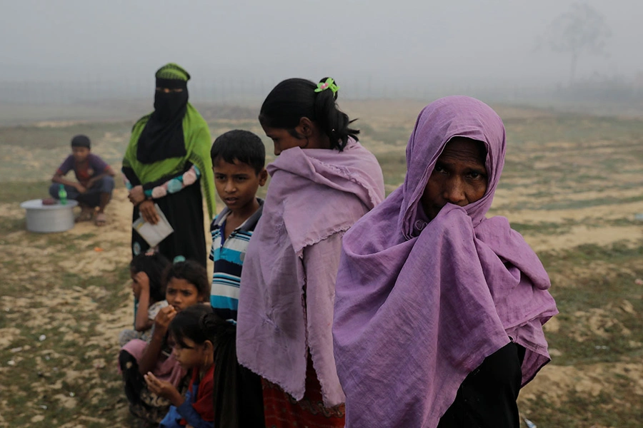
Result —
<instances>
[{"instance_id":1,"label":"patchy field of grass and bare sandy dirt around the group","mask_svg":"<svg viewBox=\"0 0 643 428\"><path fill-rule=\"evenodd\" d=\"M496 107L509 146L490 215L507 216L537 250L561 312L546 325L553 360L522 390L522 416L539 428L640 427L643 222L635 215L643 213L643 120ZM382 164L387 191L394 190L422 105L344 108L359 118L362 142ZM202 111L213 137L230 128L262 135L252 109ZM19 208L46 196L76 133L89 135L92 150L119 168L131 125L0 127L0 426L134 424L116 371L116 337L133 320L124 188L116 189L104 228L83 223L66 233L27 233Z\"/></svg>"}]
</instances>

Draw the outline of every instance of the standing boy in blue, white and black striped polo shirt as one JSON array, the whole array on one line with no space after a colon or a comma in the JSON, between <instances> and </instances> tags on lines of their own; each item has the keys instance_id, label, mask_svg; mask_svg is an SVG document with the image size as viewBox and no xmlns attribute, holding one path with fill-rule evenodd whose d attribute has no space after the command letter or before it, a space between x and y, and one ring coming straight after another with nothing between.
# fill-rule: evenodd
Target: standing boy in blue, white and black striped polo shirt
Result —
<instances>
[{"instance_id":1,"label":"standing boy in blue, white and black striped polo shirt","mask_svg":"<svg viewBox=\"0 0 643 428\"><path fill-rule=\"evenodd\" d=\"M214 274L212 310L230 323L220 329L214 350L214 426L263 427L261 378L236 360L236 312L246 248L261 217L264 201L256 197L266 184L266 148L249 131L228 131L210 150L214 185L226 208L212 221Z\"/></svg>"}]
</instances>

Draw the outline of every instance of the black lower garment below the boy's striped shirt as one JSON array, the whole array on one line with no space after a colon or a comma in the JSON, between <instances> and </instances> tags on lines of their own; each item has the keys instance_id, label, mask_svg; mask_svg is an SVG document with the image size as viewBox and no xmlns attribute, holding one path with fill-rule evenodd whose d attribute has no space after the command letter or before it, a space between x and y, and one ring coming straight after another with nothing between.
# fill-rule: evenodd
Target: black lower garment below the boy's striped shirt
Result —
<instances>
[{"instance_id":1,"label":"black lower garment below the boy's striped shirt","mask_svg":"<svg viewBox=\"0 0 643 428\"><path fill-rule=\"evenodd\" d=\"M214 352L214 427L264 428L261 377L236 360L236 325L219 332Z\"/></svg>"}]
</instances>

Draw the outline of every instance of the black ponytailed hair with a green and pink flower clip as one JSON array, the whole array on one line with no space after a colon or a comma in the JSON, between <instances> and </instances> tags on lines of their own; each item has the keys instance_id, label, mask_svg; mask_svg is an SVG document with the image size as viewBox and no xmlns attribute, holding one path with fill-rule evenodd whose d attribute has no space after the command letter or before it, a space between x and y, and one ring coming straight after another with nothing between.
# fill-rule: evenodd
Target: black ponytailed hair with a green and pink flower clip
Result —
<instances>
[{"instance_id":1,"label":"black ponytailed hair with a green and pink flower clip","mask_svg":"<svg viewBox=\"0 0 643 428\"><path fill-rule=\"evenodd\" d=\"M319 81L324 83L327 78ZM336 82L337 83L337 82ZM337 108L337 93L331 88L315 92L316 83L305 78L289 78L275 86L261 105L259 122L267 128L286 129L300 138L294 128L301 118L309 118L326 134L331 148L342 151L349 138L357 140L359 130L350 128L354 121Z\"/></svg>"}]
</instances>

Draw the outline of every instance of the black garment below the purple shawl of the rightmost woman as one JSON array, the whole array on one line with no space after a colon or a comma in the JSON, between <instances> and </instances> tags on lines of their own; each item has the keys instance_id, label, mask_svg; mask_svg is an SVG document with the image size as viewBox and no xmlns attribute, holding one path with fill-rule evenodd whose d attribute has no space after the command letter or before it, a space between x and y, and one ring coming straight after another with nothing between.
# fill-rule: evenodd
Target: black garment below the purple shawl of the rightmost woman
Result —
<instances>
[{"instance_id":1,"label":"black garment below the purple shawl of the rightmost woman","mask_svg":"<svg viewBox=\"0 0 643 428\"><path fill-rule=\"evenodd\" d=\"M524 351L511 342L485 358L464 379L437 428L519 428Z\"/></svg>"}]
</instances>

